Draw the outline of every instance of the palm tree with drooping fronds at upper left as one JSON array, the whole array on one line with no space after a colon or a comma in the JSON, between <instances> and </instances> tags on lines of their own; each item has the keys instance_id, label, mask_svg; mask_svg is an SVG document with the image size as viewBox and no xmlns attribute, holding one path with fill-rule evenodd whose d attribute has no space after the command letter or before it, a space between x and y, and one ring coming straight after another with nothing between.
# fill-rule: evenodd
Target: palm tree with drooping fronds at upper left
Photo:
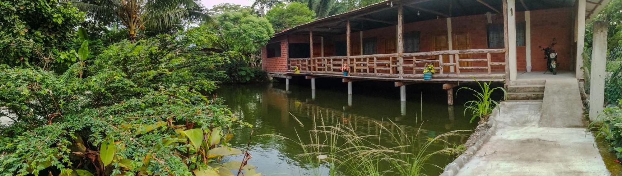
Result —
<instances>
[{"instance_id":1,"label":"palm tree with drooping fronds at upper left","mask_svg":"<svg viewBox=\"0 0 622 176\"><path fill-rule=\"evenodd\" d=\"M145 28L165 30L185 22L211 22L197 0L81 0L72 4L93 20L126 26L130 40Z\"/></svg>"}]
</instances>

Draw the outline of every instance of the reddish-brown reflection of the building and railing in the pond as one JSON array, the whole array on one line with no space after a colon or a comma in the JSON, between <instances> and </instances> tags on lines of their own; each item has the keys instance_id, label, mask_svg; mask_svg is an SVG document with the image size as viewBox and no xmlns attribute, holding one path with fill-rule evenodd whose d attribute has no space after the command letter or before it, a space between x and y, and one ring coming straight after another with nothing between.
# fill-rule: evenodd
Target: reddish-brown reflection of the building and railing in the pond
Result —
<instances>
[{"instance_id":1,"label":"reddish-brown reflection of the building and railing in the pond","mask_svg":"<svg viewBox=\"0 0 622 176\"><path fill-rule=\"evenodd\" d=\"M402 125L394 123L392 120L384 119L378 120L376 118L365 117L363 115L357 115L354 113L346 112L344 110L338 110L333 108L320 107L319 105L304 102L301 100L287 97L287 91L282 89L269 89L262 95L262 104L266 106L274 105L281 110L281 120L283 123L289 123L290 113L296 116L312 118L317 126L334 126L334 125L346 125L350 126L352 130L356 131L359 135L376 135L380 134L383 128L390 131L393 134L399 132L398 130L404 130L409 133L416 132L418 126ZM397 118L399 120L400 117ZM450 124L445 125L445 128L453 126L453 108L450 108ZM420 138L434 138L441 134L437 131L430 131L420 129ZM422 135L421 135L422 134ZM463 139L460 139L462 141Z\"/></svg>"}]
</instances>

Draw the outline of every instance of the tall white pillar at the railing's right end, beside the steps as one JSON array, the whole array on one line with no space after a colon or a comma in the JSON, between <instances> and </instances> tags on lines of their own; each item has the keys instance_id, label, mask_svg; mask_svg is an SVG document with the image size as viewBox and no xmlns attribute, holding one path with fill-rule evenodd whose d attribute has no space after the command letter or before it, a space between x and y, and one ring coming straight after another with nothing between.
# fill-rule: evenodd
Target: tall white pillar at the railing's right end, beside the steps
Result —
<instances>
[{"instance_id":1,"label":"tall white pillar at the railing's right end, beside the steps","mask_svg":"<svg viewBox=\"0 0 622 176\"><path fill-rule=\"evenodd\" d=\"M516 1L508 2L508 56L509 80L516 81Z\"/></svg>"}]
</instances>

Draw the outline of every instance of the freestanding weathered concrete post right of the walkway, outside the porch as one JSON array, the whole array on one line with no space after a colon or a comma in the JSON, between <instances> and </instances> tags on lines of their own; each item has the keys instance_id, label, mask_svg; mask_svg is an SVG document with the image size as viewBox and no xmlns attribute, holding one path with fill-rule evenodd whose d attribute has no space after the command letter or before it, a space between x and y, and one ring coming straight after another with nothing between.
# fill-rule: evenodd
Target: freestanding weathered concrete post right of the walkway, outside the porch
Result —
<instances>
[{"instance_id":1,"label":"freestanding weathered concrete post right of the walkway, outside the porch","mask_svg":"<svg viewBox=\"0 0 622 176\"><path fill-rule=\"evenodd\" d=\"M590 120L596 121L605 107L605 64L607 58L607 27L603 21L594 22L592 42L592 71L590 72Z\"/></svg>"}]
</instances>

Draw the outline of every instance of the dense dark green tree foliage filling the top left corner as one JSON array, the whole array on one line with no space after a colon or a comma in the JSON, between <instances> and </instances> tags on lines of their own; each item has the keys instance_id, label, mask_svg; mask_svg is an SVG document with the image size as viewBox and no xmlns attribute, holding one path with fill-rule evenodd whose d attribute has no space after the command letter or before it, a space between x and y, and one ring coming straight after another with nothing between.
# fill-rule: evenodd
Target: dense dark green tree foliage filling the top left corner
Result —
<instances>
[{"instance_id":1,"label":"dense dark green tree foliage filling the top left corner","mask_svg":"<svg viewBox=\"0 0 622 176\"><path fill-rule=\"evenodd\" d=\"M83 13L67 0L0 1L0 64L19 66L53 61L53 51L75 37Z\"/></svg>"}]
</instances>

